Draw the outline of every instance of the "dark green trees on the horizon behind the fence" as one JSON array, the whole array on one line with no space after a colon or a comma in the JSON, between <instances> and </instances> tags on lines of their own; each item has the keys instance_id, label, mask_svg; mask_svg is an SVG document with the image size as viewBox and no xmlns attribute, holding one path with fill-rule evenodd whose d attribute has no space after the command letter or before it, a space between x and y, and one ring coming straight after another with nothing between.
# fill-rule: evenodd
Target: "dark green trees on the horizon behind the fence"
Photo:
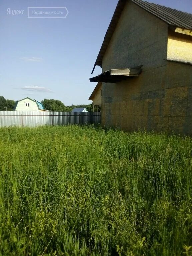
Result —
<instances>
[{"instance_id":1,"label":"dark green trees on the horizon behind the fence","mask_svg":"<svg viewBox=\"0 0 192 256\"><path fill-rule=\"evenodd\" d=\"M93 105L71 105L65 106L60 100L44 99L41 101L44 108L50 111L72 111L74 108L86 108L88 112L93 112ZM3 96L0 96L0 111L12 111L15 105L14 100L6 100Z\"/></svg>"}]
</instances>

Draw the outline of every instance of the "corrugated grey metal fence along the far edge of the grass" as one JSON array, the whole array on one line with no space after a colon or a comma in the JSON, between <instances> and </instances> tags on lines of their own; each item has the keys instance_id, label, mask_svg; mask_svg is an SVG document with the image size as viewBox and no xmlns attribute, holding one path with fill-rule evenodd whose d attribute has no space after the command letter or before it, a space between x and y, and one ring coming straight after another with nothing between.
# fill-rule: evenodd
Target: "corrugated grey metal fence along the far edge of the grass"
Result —
<instances>
[{"instance_id":1,"label":"corrugated grey metal fence along the far edge of the grass","mask_svg":"<svg viewBox=\"0 0 192 256\"><path fill-rule=\"evenodd\" d=\"M98 123L101 112L0 111L0 127Z\"/></svg>"}]
</instances>

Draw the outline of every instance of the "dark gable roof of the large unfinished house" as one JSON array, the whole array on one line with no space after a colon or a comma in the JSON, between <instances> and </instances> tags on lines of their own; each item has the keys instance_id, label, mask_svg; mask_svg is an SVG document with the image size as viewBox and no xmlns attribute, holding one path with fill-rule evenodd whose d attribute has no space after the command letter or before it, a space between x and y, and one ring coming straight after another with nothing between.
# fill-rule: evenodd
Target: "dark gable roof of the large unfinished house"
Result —
<instances>
[{"instance_id":1,"label":"dark gable roof of the large unfinished house","mask_svg":"<svg viewBox=\"0 0 192 256\"><path fill-rule=\"evenodd\" d=\"M109 24L107 32L105 34L103 44L97 56L93 71L96 66L102 67L102 59L107 50L108 44L112 38L112 35L115 31L121 13L125 7L125 4L128 0L119 0L115 12L113 14L112 20ZM153 4L144 2L141 0L129 0L145 11L151 13L152 15L156 16L157 18L161 19L162 21L166 22L170 26L175 26L179 28L185 28L192 30L192 14L178 11L175 9L171 9L169 7L161 6L159 4ZM93 71L91 74L93 74Z\"/></svg>"}]
</instances>

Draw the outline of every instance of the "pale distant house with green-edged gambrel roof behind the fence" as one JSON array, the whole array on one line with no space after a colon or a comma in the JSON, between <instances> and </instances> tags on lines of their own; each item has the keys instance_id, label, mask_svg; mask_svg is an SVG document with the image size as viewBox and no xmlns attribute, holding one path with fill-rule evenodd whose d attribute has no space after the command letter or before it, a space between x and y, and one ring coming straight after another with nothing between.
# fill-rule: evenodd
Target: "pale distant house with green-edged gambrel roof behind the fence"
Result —
<instances>
[{"instance_id":1,"label":"pale distant house with green-edged gambrel roof behind the fence","mask_svg":"<svg viewBox=\"0 0 192 256\"><path fill-rule=\"evenodd\" d=\"M46 111L43 104L37 100L24 98L17 100L14 106L15 111Z\"/></svg>"}]
</instances>

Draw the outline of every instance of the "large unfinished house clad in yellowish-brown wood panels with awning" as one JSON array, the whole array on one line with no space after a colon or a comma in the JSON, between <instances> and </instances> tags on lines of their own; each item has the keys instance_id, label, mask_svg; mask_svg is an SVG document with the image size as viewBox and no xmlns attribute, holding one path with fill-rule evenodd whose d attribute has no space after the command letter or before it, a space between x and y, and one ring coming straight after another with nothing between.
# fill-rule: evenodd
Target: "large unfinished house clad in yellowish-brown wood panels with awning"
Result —
<instances>
[{"instance_id":1,"label":"large unfinished house clad in yellowish-brown wood panels with awning","mask_svg":"<svg viewBox=\"0 0 192 256\"><path fill-rule=\"evenodd\" d=\"M96 65L102 125L192 133L191 14L119 0Z\"/></svg>"}]
</instances>

